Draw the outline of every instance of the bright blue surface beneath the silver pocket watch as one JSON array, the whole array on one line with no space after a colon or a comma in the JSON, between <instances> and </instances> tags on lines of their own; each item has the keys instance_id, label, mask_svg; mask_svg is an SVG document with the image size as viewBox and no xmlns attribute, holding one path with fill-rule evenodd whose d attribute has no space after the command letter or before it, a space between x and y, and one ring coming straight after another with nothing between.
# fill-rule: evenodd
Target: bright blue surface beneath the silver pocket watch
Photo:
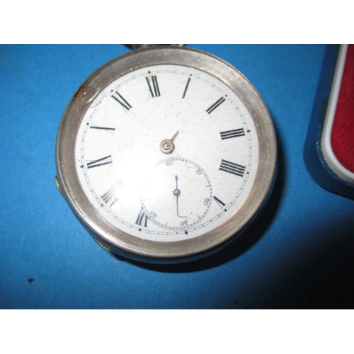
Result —
<instances>
[{"instance_id":1,"label":"bright blue surface beneath the silver pocket watch","mask_svg":"<svg viewBox=\"0 0 354 354\"><path fill-rule=\"evenodd\" d=\"M0 46L2 309L352 308L354 201L317 185L304 144L326 45L188 45L256 86L275 123L275 190L253 226L182 265L99 247L55 186L55 139L70 98L125 45Z\"/></svg>"}]
</instances>

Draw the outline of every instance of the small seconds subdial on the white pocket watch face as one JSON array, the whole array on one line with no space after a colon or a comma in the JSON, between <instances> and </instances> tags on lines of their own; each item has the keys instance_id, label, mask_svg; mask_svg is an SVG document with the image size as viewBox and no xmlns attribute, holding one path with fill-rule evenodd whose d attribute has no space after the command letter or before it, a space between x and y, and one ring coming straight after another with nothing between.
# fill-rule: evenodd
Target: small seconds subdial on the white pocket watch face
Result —
<instances>
[{"instance_id":1,"label":"small seconds subdial on the white pocket watch face","mask_svg":"<svg viewBox=\"0 0 354 354\"><path fill-rule=\"evenodd\" d=\"M190 229L210 210L212 182L193 161L164 159L143 183L141 201L145 214L160 227Z\"/></svg>"}]
</instances>

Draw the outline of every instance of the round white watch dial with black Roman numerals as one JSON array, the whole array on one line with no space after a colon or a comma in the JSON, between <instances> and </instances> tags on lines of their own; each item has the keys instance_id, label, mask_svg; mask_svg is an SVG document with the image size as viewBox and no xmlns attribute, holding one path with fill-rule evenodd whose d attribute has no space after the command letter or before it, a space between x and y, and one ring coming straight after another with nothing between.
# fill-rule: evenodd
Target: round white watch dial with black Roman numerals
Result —
<instances>
[{"instance_id":1,"label":"round white watch dial with black Roman numerals","mask_svg":"<svg viewBox=\"0 0 354 354\"><path fill-rule=\"evenodd\" d=\"M161 142L172 138L166 154ZM106 222L139 239L181 241L219 227L242 205L258 168L258 137L249 111L215 76L154 65L93 99L75 163Z\"/></svg>"}]
</instances>

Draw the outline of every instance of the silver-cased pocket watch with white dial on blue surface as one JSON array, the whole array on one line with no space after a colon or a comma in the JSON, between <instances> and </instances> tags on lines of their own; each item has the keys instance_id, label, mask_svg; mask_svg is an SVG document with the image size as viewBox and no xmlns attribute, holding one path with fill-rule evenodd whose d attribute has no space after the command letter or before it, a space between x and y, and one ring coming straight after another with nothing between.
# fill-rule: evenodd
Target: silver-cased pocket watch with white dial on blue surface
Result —
<instances>
[{"instance_id":1,"label":"silver-cased pocket watch with white dial on blue surface","mask_svg":"<svg viewBox=\"0 0 354 354\"><path fill-rule=\"evenodd\" d=\"M91 74L59 125L57 186L104 249L193 261L249 226L270 195L275 131L234 67L142 45Z\"/></svg>"}]
</instances>

